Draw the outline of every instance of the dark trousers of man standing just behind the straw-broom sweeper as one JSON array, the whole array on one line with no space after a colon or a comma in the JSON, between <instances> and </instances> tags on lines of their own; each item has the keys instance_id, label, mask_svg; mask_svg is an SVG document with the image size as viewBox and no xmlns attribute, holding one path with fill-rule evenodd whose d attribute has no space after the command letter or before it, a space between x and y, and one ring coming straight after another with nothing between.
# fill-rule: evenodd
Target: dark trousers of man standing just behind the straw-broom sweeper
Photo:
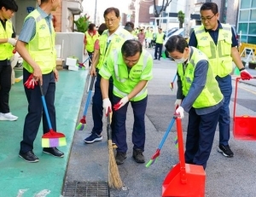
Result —
<instances>
[{"instance_id":1,"label":"dark trousers of man standing just behind the straw-broom sweeper","mask_svg":"<svg viewBox=\"0 0 256 197\"><path fill-rule=\"evenodd\" d=\"M99 74L97 70L96 83L95 83L95 92L92 99L92 119L93 119L93 129L92 133L96 133L100 135L102 133L102 117L103 117L103 107L102 107L102 90L101 90L101 78L102 76ZM109 100L113 101L113 81L109 79L109 89L108 89ZM114 115L112 117L112 121L114 119ZM113 127L112 127L113 130Z\"/></svg>"}]
</instances>

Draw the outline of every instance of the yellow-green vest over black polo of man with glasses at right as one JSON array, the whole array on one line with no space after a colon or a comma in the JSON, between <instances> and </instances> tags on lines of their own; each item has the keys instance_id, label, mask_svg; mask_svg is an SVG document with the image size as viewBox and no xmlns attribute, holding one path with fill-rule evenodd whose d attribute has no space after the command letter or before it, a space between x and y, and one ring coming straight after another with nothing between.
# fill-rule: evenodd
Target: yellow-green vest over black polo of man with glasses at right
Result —
<instances>
[{"instance_id":1,"label":"yellow-green vest over black polo of man with glasses at right","mask_svg":"<svg viewBox=\"0 0 256 197\"><path fill-rule=\"evenodd\" d=\"M195 37L197 48L207 55L214 76L218 75L223 78L232 71L232 32L230 25L221 24L221 26L223 28L218 30L217 45L209 32L205 31L204 26L195 29Z\"/></svg>"}]
</instances>

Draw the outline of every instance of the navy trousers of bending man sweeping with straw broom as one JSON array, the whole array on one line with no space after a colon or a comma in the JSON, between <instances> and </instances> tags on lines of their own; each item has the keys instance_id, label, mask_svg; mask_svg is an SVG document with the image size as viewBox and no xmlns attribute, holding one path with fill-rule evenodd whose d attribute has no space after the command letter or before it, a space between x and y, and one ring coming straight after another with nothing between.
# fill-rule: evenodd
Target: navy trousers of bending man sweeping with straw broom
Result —
<instances>
[{"instance_id":1,"label":"navy trousers of bending man sweeping with straw broom","mask_svg":"<svg viewBox=\"0 0 256 197\"><path fill-rule=\"evenodd\" d=\"M121 98L113 96L113 105L118 103ZM141 101L129 101L133 110L134 123L132 129L133 148L139 148L144 151L145 146L145 113L148 102L148 96ZM128 147L126 142L126 113L129 102L125 106L113 111L114 114L114 142L118 146L117 152L126 153Z\"/></svg>"}]
</instances>

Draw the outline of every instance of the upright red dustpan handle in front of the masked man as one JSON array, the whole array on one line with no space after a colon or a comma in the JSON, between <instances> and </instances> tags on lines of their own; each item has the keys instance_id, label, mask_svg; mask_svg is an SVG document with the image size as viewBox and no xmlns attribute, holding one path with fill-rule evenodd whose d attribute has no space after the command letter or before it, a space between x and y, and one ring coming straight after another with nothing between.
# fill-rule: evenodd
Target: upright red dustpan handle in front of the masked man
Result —
<instances>
[{"instance_id":1,"label":"upright red dustpan handle in front of the masked man","mask_svg":"<svg viewBox=\"0 0 256 197\"><path fill-rule=\"evenodd\" d=\"M178 143L178 157L179 157L179 165L180 165L180 179L182 183L187 182L186 177L186 169L185 169L185 156L184 156L184 148L183 148L183 128L182 122L179 117L176 119L177 125L177 143Z\"/></svg>"}]
</instances>

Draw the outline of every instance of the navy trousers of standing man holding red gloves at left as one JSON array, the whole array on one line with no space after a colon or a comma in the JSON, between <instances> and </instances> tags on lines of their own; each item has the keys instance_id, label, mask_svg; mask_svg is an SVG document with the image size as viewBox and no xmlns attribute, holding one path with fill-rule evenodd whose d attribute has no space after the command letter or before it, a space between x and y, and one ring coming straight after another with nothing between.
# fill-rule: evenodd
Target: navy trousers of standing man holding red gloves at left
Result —
<instances>
[{"instance_id":1,"label":"navy trousers of standing man holding red gloves at left","mask_svg":"<svg viewBox=\"0 0 256 197\"><path fill-rule=\"evenodd\" d=\"M30 72L27 72L23 68L23 84L30 76ZM26 154L26 152L33 149L33 142L38 134L39 125L42 119L43 113L43 132L49 131L49 125L43 110L43 103L41 98L41 91L39 85L35 85L34 89L27 89L24 86L26 99L28 101L28 113L26 114L23 140L20 142L20 153ZM53 72L43 75L43 90L46 106L49 112L49 119L53 130L56 130L56 117L55 117L55 76Z\"/></svg>"}]
</instances>

